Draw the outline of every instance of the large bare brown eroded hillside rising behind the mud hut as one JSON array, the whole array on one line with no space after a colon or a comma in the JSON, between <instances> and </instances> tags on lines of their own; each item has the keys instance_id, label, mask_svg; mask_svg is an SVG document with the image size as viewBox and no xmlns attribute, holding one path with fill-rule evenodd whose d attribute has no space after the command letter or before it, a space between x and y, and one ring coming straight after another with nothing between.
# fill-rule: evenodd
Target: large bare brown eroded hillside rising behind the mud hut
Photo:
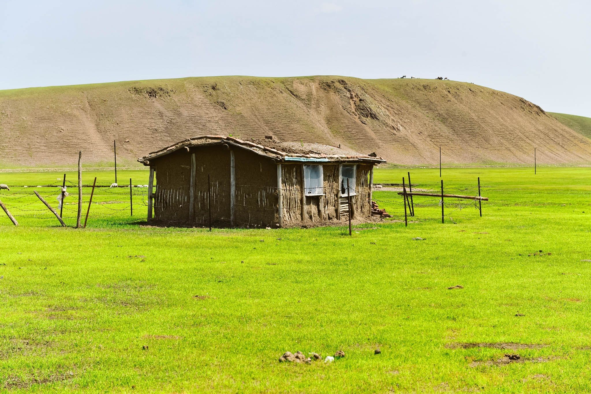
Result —
<instances>
[{"instance_id":1,"label":"large bare brown eroded hillside rising behind the mud hut","mask_svg":"<svg viewBox=\"0 0 591 394\"><path fill-rule=\"evenodd\" d=\"M201 77L0 91L0 163L118 162L203 134L320 142L395 164L589 164L591 140L520 97L470 83Z\"/></svg>"}]
</instances>

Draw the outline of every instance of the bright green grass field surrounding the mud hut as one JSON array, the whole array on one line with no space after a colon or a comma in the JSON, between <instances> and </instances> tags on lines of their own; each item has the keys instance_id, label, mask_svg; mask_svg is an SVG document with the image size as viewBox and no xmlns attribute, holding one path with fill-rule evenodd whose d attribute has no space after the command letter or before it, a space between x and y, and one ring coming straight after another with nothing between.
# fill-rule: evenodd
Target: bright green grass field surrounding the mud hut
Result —
<instances>
[{"instance_id":1,"label":"bright green grass field surrounding the mud hut","mask_svg":"<svg viewBox=\"0 0 591 394\"><path fill-rule=\"evenodd\" d=\"M415 188L436 190L439 170L411 171ZM406 172L376 170L375 182ZM37 209L22 185L61 175L0 174L14 185L0 200ZM147 183L147 172L119 174L130 176ZM433 198L417 197L408 227L364 224L352 237L142 226L140 201L134 217L124 202L93 205L84 230L51 216L14 227L0 212L0 390L589 392L591 169L443 170L460 194L478 176L491 198L482 218L450 199L441 224ZM395 192L375 199L401 219ZM298 350L346 356L278 362Z\"/></svg>"}]
</instances>

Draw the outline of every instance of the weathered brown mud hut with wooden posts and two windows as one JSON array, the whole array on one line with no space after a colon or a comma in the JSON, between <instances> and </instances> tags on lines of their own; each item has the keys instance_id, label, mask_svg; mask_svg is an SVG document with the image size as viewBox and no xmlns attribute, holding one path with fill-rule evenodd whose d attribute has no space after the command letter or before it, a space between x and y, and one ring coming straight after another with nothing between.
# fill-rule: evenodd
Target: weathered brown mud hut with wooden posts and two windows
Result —
<instances>
[{"instance_id":1,"label":"weathered brown mud hut with wooden posts and two windows","mask_svg":"<svg viewBox=\"0 0 591 394\"><path fill-rule=\"evenodd\" d=\"M348 220L349 194L352 219L369 220L374 166L385 162L329 145L210 135L138 161L150 167L148 222L216 227L336 224Z\"/></svg>"}]
</instances>

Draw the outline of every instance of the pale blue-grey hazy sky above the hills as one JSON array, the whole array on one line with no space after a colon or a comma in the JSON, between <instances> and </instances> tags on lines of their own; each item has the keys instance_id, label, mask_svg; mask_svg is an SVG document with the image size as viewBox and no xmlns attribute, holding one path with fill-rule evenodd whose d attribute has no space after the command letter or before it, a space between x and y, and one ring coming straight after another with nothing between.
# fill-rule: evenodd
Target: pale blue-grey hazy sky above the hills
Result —
<instances>
[{"instance_id":1,"label":"pale blue-grey hazy sky above the hills","mask_svg":"<svg viewBox=\"0 0 591 394\"><path fill-rule=\"evenodd\" d=\"M448 77L591 117L591 2L0 0L0 89Z\"/></svg>"}]
</instances>

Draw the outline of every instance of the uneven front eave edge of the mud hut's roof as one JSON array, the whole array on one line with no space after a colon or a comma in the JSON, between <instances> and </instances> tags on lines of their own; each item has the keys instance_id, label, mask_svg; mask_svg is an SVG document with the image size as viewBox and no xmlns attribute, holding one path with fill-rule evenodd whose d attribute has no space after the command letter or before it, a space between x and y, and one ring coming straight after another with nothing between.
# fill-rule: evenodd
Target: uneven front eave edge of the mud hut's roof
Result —
<instances>
[{"instance_id":1,"label":"uneven front eave edge of the mud hut's roof","mask_svg":"<svg viewBox=\"0 0 591 394\"><path fill-rule=\"evenodd\" d=\"M204 139L209 139L211 141L203 141ZM230 136L220 136L220 135L203 135L199 137L187 138L183 141L177 142L176 144L167 146L163 149L158 151L151 152L150 154L138 158L139 162L142 162L144 165L149 165L149 161L151 159L160 158L164 155L171 154L173 152L178 151L178 149L183 148L190 148L191 146L207 146L207 145L220 145L220 144L228 144L232 146L238 146L239 148L248 149L258 155L268 157L280 162L297 160L298 158L302 158L305 160L302 161L314 161L317 159L318 162L326 162L326 161L362 161L362 162L371 162L374 164L378 163L385 163L386 161L381 157L372 157L368 155L321 155L321 154L297 154L297 153L288 153L282 152L278 149L269 148L268 146L263 146L260 144L255 144L251 141L243 141L239 138L234 138Z\"/></svg>"}]
</instances>

